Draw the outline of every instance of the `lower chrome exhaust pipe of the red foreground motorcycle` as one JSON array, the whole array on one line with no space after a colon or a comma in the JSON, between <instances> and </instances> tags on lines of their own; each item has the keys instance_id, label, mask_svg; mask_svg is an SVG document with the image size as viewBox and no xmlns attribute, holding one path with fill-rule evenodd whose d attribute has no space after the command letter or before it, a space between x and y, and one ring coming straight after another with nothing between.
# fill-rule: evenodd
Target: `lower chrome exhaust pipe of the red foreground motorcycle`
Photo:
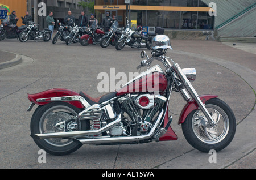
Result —
<instances>
[{"instance_id":1,"label":"lower chrome exhaust pipe of the red foreground motorcycle","mask_svg":"<svg viewBox=\"0 0 256 180\"><path fill-rule=\"evenodd\" d=\"M141 136L123 136L123 137L110 137L110 138L92 138L92 139L73 139L74 142L80 144L101 144L101 143L121 143L121 142L137 142L151 138L155 133L156 128L163 119L164 110L159 113L158 119L156 119L155 125L151 128L150 132Z\"/></svg>"}]
</instances>

